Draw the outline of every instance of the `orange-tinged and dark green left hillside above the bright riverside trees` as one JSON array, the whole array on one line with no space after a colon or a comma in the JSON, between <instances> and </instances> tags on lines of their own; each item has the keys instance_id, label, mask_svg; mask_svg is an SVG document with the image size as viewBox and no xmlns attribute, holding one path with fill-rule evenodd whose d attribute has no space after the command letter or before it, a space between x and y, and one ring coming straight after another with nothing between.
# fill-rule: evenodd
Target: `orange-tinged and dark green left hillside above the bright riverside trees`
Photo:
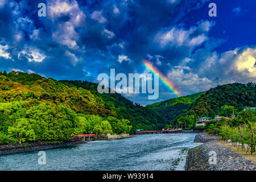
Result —
<instances>
[{"instance_id":1,"label":"orange-tinged and dark green left hillside above the bright riverside trees","mask_svg":"<svg viewBox=\"0 0 256 182\"><path fill-rule=\"evenodd\" d=\"M34 107L39 107L42 104L48 104L53 109L56 107L56 110L58 109L57 107L61 106L64 110L65 108L71 109L76 114L100 115L105 120L108 120L108 117L120 120L127 119L130 121L129 125L133 126L130 133L135 129L162 129L167 122L155 111L133 104L121 94L99 94L95 83L87 81L57 81L34 73L0 72L1 103L2 105L5 104L5 106L6 104L10 105L10 110L5 110L4 108L1 110L0 108L0 113L7 113L12 118L10 120L15 120L16 118L30 119L30 116L27 115L28 110L36 109ZM16 118L13 117L13 114L18 115L20 113L15 113L15 109L11 109L15 107L14 105L25 109L23 111L19 110L19 112L24 113L15 116Z\"/></svg>"}]
</instances>

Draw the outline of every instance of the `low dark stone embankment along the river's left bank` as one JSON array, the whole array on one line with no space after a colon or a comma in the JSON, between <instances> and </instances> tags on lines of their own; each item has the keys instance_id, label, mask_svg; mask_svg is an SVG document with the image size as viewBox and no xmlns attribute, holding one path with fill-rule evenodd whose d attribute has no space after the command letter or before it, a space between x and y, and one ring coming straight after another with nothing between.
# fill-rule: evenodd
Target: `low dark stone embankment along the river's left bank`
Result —
<instances>
[{"instance_id":1,"label":"low dark stone embankment along the river's left bank","mask_svg":"<svg viewBox=\"0 0 256 182\"><path fill-rule=\"evenodd\" d=\"M0 155L9 155L9 154L17 154L23 152L32 152L32 151L40 151L40 150L48 150L53 148L61 148L72 146L75 144L86 143L81 140L71 140L69 142L60 143L60 142L33 142L29 144L8 144L0 146Z\"/></svg>"}]
</instances>

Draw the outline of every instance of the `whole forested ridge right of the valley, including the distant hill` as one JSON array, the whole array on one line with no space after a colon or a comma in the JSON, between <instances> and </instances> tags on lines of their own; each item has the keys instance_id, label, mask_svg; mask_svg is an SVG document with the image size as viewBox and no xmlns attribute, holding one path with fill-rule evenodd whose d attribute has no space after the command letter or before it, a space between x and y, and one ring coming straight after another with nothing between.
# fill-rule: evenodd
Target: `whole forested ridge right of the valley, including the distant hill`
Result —
<instances>
[{"instance_id":1,"label":"whole forested ridge right of the valley, including the distant hill","mask_svg":"<svg viewBox=\"0 0 256 182\"><path fill-rule=\"evenodd\" d=\"M172 125L180 123L186 126L187 129L195 127L195 123L199 117L214 117L216 115L224 115L223 108L229 107L231 110L238 114L239 111L245 107L256 106L256 84L226 84L220 85L216 88L212 88L207 92L199 93L199 95L186 96L190 104L183 104L178 101L179 98L167 100L160 104L153 104L147 107L158 110L160 114L163 114L166 119L170 121ZM182 97L181 97L182 98ZM176 100L176 101L175 101ZM168 106L170 103L170 106ZM175 104L178 103L178 104ZM175 104L172 106L172 104ZM166 107L164 105L167 105ZM226 116L230 117L232 111ZM172 116L174 115L174 116Z\"/></svg>"}]
</instances>

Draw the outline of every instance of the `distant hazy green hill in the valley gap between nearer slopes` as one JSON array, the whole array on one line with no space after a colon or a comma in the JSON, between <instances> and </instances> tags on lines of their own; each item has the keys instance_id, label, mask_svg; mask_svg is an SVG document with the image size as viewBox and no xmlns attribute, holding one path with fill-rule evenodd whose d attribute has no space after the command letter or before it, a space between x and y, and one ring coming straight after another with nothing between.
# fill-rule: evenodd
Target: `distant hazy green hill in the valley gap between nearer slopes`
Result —
<instances>
[{"instance_id":1,"label":"distant hazy green hill in the valley gap between nearer slopes","mask_svg":"<svg viewBox=\"0 0 256 182\"><path fill-rule=\"evenodd\" d=\"M163 115L169 123L173 123L180 115L187 109L189 104L195 102L198 98L203 96L206 92L199 92L189 96L171 98L166 101L157 102L155 104L147 105L146 107L155 110Z\"/></svg>"}]
</instances>

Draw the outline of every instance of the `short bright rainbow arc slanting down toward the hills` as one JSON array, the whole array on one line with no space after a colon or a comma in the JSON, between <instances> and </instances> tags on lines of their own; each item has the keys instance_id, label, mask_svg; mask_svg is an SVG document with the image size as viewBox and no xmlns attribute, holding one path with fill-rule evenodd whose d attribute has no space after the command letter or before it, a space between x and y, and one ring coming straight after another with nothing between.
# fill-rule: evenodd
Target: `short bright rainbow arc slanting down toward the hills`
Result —
<instances>
[{"instance_id":1,"label":"short bright rainbow arc slanting down toward the hills","mask_svg":"<svg viewBox=\"0 0 256 182\"><path fill-rule=\"evenodd\" d=\"M158 68L154 67L154 65L152 63L150 63L150 61L147 60L142 60L144 66L146 67L146 69L148 69L148 71L151 71L152 73L158 73L159 74L159 78L160 81L169 89L171 90L172 93L175 94L175 96L180 97L181 96L181 92L179 90L177 90L175 88L174 83L172 83L166 76L163 75L163 73L161 73Z\"/></svg>"}]
</instances>

